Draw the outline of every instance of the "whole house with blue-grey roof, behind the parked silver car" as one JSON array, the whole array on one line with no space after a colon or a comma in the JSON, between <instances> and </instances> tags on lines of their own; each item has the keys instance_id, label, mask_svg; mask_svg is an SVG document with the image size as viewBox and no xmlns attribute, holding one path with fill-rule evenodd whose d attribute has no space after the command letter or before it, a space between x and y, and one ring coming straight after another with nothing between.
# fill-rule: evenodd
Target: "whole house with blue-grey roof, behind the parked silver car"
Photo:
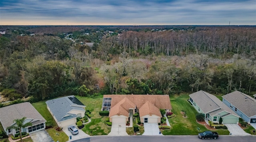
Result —
<instances>
[{"instance_id":1,"label":"whole house with blue-grey roof, behind the parked silver car","mask_svg":"<svg viewBox=\"0 0 256 142\"><path fill-rule=\"evenodd\" d=\"M77 117L84 117L85 105L75 96L66 96L45 102L60 128L76 124Z\"/></svg>"}]
</instances>

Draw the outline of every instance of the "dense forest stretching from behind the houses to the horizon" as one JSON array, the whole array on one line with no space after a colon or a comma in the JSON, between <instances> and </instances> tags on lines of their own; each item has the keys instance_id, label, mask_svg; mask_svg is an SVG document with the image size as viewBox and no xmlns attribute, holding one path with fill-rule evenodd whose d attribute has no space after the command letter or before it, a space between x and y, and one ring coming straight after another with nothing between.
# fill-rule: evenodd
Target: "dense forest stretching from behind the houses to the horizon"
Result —
<instances>
[{"instance_id":1,"label":"dense forest stretching from behind the houses to the horizon","mask_svg":"<svg viewBox=\"0 0 256 142\"><path fill-rule=\"evenodd\" d=\"M256 93L255 26L1 26L0 92ZM93 46L85 43L94 42Z\"/></svg>"}]
</instances>

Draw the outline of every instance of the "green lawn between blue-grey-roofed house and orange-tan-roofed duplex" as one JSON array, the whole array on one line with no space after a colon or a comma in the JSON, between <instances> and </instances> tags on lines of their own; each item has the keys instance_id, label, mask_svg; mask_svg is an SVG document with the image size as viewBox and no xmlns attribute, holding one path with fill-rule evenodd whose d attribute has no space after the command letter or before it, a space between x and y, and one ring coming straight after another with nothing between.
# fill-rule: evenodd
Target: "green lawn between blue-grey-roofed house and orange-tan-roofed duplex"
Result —
<instances>
[{"instance_id":1,"label":"green lawn between blue-grey-roofed house and orange-tan-roofed duplex","mask_svg":"<svg viewBox=\"0 0 256 142\"><path fill-rule=\"evenodd\" d=\"M107 126L106 124L106 118L108 118L108 116L100 116L99 114L102 108L103 97L101 96L100 98L88 98L76 96L76 98L86 106L86 110L91 111L92 116L90 118L92 121L88 124L85 124L82 130L91 136L107 135L111 130L111 127Z\"/></svg>"}]
</instances>

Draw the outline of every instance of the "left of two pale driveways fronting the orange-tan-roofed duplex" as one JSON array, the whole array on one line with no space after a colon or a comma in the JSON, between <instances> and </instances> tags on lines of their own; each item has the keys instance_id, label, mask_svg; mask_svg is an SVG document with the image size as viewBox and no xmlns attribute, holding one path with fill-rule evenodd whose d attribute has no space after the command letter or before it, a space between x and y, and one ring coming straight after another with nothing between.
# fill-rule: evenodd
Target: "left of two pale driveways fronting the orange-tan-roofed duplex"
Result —
<instances>
[{"instance_id":1,"label":"left of two pale driveways fronting the orange-tan-roofed duplex","mask_svg":"<svg viewBox=\"0 0 256 142\"><path fill-rule=\"evenodd\" d=\"M128 136L128 134L126 132L126 124L125 123L112 122L111 132L108 135Z\"/></svg>"}]
</instances>

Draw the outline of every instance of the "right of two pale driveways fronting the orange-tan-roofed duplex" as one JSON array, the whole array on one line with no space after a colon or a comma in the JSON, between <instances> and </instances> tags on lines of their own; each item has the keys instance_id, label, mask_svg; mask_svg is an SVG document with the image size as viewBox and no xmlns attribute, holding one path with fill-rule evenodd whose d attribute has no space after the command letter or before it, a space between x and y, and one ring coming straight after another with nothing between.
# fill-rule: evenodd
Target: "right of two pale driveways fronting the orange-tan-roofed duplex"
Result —
<instances>
[{"instance_id":1,"label":"right of two pale driveways fronting the orange-tan-roofed duplex","mask_svg":"<svg viewBox=\"0 0 256 142\"><path fill-rule=\"evenodd\" d=\"M159 127L157 123L144 123L144 136L162 136L159 134Z\"/></svg>"}]
</instances>

